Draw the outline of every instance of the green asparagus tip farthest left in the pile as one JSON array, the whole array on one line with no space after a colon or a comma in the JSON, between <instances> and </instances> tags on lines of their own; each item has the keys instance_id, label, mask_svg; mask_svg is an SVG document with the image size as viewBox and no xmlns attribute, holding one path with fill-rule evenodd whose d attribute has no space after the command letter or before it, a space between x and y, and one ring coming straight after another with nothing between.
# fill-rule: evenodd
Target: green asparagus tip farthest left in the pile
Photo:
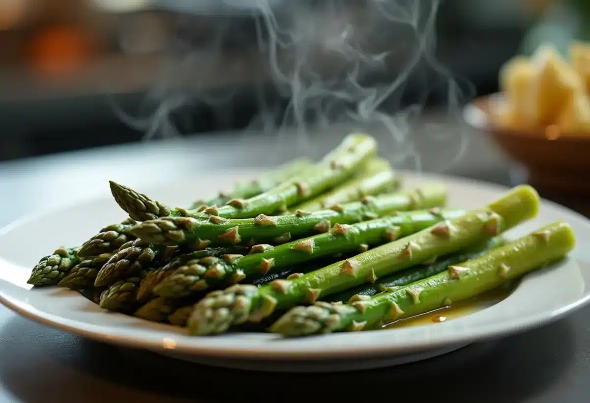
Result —
<instances>
[{"instance_id":1,"label":"green asparagus tip farthest left in the pile","mask_svg":"<svg viewBox=\"0 0 590 403\"><path fill-rule=\"evenodd\" d=\"M56 285L80 262L78 250L77 247L60 247L52 255L42 257L33 268L27 283L36 286Z\"/></svg>"}]
</instances>

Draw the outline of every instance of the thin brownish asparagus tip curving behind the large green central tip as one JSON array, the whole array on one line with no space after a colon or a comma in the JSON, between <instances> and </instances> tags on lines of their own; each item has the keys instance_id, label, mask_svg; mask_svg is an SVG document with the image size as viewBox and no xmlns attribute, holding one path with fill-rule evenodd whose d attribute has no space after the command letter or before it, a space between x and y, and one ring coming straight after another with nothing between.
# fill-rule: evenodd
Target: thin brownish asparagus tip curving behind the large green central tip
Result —
<instances>
[{"instance_id":1,"label":"thin brownish asparagus tip curving behind the large green central tip","mask_svg":"<svg viewBox=\"0 0 590 403\"><path fill-rule=\"evenodd\" d=\"M196 252L185 253L183 255L176 256L170 262L166 262L165 265L158 269L152 270L146 275L145 279L142 280L139 290L137 290L137 299L140 301L147 301L154 296L153 288L162 282L170 273L177 269L181 269L187 265L193 265L207 256L222 256L231 253L242 252L241 249L235 249L234 247L217 247L208 248L204 250L197 250Z\"/></svg>"}]
</instances>

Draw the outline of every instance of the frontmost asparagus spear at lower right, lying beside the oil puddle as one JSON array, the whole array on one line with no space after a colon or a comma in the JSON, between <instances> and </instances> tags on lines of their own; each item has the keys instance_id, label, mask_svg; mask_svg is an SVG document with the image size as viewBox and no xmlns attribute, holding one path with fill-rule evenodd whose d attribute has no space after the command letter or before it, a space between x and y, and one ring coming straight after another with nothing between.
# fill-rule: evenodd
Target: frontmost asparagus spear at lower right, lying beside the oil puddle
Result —
<instances>
[{"instance_id":1,"label":"frontmost asparagus spear at lower right, lying beside the oil puddle","mask_svg":"<svg viewBox=\"0 0 590 403\"><path fill-rule=\"evenodd\" d=\"M350 305L316 303L291 309L271 326L285 336L360 331L451 305L567 255L575 246L572 227L555 222L476 259L449 266L406 287Z\"/></svg>"}]
</instances>

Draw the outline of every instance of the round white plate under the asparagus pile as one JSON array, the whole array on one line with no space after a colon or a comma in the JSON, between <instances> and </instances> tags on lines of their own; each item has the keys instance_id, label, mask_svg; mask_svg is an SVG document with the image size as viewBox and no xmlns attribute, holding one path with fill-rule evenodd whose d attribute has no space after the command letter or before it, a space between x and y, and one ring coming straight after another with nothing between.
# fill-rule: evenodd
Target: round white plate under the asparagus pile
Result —
<instances>
[{"instance_id":1,"label":"round white plate under the asparagus pile","mask_svg":"<svg viewBox=\"0 0 590 403\"><path fill-rule=\"evenodd\" d=\"M404 173L405 186L444 181L451 207L466 209L487 204L507 189L477 181ZM195 189L205 194L245 179L238 174L185 181L146 191L156 199L188 204ZM381 331L335 333L281 339L266 333L188 336L182 329L107 313L77 292L58 288L31 290L30 268L55 247L80 245L104 224L125 214L106 197L44 213L0 232L0 302L21 315L55 328L120 346L149 349L207 364L274 371L332 371L371 368L427 358L466 345L523 331L553 321L590 299L590 223L557 204L543 201L537 219L507 232L510 238L555 220L569 222L578 246L565 262L526 276L514 292L490 308L443 323ZM283 364L283 365L281 365ZM331 364L331 365L330 365ZM335 365L337 364L337 365Z\"/></svg>"}]
</instances>

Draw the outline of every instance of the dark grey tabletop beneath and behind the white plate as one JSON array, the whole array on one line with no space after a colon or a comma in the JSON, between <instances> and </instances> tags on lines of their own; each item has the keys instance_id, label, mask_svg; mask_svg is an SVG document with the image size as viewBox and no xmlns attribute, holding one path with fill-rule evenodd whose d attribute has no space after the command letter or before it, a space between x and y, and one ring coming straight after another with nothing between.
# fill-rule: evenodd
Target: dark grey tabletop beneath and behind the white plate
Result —
<instances>
[{"instance_id":1,"label":"dark grey tabletop beneath and behind the white plate","mask_svg":"<svg viewBox=\"0 0 590 403\"><path fill-rule=\"evenodd\" d=\"M339 140L324 134L301 150L296 147L301 144L296 136L281 138L283 147L272 146L276 141L270 143L263 135L196 137L0 164L0 226L42 208L104 196L107 179L140 188L219 166L273 166L281 158L309 150L312 156L319 156ZM481 137L473 137L468 144L466 157L450 173L513 183L506 160L491 144ZM422 152L423 159L431 163L425 169L439 169L432 161L440 154L437 149ZM304 401L325 390L320 397L328 396L329 391L338 401L401 396L414 402L587 402L588 318L590 307L542 328L393 368L321 375L264 374L209 368L117 348L47 328L0 307L0 400L260 403L277 398ZM432 386L424 387L424 382ZM346 384L354 387L344 389ZM453 391L455 387L458 392Z\"/></svg>"}]
</instances>

